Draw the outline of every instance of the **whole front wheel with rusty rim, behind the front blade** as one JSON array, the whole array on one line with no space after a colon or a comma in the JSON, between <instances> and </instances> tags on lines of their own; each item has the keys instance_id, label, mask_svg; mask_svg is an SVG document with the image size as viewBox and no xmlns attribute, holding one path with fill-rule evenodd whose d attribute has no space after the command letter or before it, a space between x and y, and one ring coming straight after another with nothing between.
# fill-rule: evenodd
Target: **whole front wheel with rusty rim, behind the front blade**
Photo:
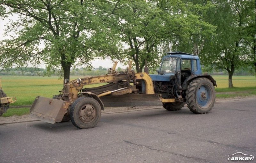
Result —
<instances>
[{"instance_id":1,"label":"whole front wheel with rusty rim, behind the front blade","mask_svg":"<svg viewBox=\"0 0 256 163\"><path fill-rule=\"evenodd\" d=\"M91 97L80 97L71 105L69 114L74 126L88 129L99 122L101 107L99 102Z\"/></svg>"}]
</instances>

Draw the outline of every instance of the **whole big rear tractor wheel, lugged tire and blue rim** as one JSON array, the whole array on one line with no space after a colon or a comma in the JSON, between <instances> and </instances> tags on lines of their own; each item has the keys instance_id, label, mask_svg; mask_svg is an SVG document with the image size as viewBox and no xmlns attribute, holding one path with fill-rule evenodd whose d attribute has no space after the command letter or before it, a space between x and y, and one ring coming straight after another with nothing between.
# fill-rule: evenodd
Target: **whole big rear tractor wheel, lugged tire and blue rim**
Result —
<instances>
[{"instance_id":1,"label":"whole big rear tractor wheel, lugged tire and blue rim","mask_svg":"<svg viewBox=\"0 0 256 163\"><path fill-rule=\"evenodd\" d=\"M187 88L188 108L195 114L206 114L212 110L215 102L215 89L208 78L196 78Z\"/></svg>"}]
</instances>

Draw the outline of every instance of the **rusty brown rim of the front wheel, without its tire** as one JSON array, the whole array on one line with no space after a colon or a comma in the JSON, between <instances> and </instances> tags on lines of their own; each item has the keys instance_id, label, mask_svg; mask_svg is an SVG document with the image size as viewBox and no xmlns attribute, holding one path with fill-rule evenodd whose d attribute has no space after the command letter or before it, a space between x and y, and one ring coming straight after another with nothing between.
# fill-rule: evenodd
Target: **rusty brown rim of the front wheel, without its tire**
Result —
<instances>
[{"instance_id":1,"label":"rusty brown rim of the front wheel, without its tire","mask_svg":"<svg viewBox=\"0 0 256 163\"><path fill-rule=\"evenodd\" d=\"M95 119L96 110L93 105L85 104L80 108L79 118L84 123L90 123Z\"/></svg>"}]
</instances>

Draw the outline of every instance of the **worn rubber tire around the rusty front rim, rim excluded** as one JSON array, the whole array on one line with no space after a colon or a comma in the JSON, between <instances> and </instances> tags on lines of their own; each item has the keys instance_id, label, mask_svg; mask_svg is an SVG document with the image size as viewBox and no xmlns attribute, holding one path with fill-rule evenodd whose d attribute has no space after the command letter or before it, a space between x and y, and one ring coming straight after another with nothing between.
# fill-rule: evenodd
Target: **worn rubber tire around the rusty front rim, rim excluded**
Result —
<instances>
[{"instance_id":1,"label":"worn rubber tire around the rusty front rim, rim excluded","mask_svg":"<svg viewBox=\"0 0 256 163\"><path fill-rule=\"evenodd\" d=\"M82 107L86 103L92 104L97 111L96 118L94 119L93 122L90 122L90 123L84 123L79 118L80 107ZM91 97L80 97L76 99L76 101L71 105L69 115L70 115L71 122L78 129L89 129L89 128L95 127L99 122L100 116L101 116L101 107L99 102Z\"/></svg>"}]
</instances>

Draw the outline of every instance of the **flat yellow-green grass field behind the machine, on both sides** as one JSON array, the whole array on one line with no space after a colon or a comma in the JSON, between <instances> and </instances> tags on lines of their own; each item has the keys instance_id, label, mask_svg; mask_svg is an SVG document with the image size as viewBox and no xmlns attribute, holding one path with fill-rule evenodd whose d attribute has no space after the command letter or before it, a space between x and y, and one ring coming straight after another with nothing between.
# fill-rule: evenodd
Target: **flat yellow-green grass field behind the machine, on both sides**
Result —
<instances>
[{"instance_id":1,"label":"flat yellow-green grass field behind the machine, on both sides","mask_svg":"<svg viewBox=\"0 0 256 163\"><path fill-rule=\"evenodd\" d=\"M57 76L38 77L38 76L2 76L4 92L10 97L16 97L17 101L11 105L30 105L36 96L52 98L54 94L59 94L62 90L62 79ZM70 77L71 80L78 77ZM213 76L217 81L216 92L242 92L241 96L256 94L255 76L234 76L233 85L236 88L229 89L228 76ZM92 87L92 85L90 85ZM93 85L99 86L99 85ZM89 85L88 85L89 87ZM234 97L236 94L217 94L218 98Z\"/></svg>"}]
</instances>

